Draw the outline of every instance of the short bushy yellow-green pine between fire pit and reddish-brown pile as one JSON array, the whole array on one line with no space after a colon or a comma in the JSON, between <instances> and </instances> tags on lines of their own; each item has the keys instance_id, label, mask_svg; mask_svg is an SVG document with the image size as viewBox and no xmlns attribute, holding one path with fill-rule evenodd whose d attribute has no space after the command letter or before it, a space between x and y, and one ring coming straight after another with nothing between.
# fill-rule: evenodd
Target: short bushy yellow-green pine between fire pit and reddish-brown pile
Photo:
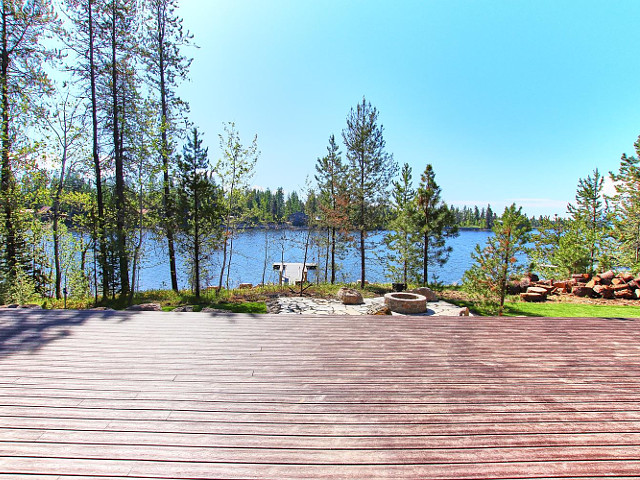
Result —
<instances>
[{"instance_id":1,"label":"short bushy yellow-green pine between fire pit and reddish-brown pile","mask_svg":"<svg viewBox=\"0 0 640 480\"><path fill-rule=\"evenodd\" d=\"M471 254L474 263L464 273L464 288L498 315L503 313L507 282L523 270L518 256L527 252L530 231L531 224L522 208L512 204L494 225L485 247L476 245Z\"/></svg>"}]
</instances>

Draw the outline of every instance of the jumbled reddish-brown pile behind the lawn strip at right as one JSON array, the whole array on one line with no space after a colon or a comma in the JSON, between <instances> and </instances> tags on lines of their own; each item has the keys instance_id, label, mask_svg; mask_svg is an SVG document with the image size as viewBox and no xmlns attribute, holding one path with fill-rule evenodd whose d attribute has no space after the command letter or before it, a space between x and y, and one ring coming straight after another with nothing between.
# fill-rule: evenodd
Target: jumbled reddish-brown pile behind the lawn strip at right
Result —
<instances>
[{"instance_id":1,"label":"jumbled reddish-brown pile behind the lawn strip at right","mask_svg":"<svg viewBox=\"0 0 640 480\"><path fill-rule=\"evenodd\" d=\"M528 274L520 282L509 285L509 294L520 295L525 302L544 302L549 295L637 300L640 299L640 276L629 272L615 274L611 270L598 275L575 274L570 279L540 280Z\"/></svg>"}]
</instances>

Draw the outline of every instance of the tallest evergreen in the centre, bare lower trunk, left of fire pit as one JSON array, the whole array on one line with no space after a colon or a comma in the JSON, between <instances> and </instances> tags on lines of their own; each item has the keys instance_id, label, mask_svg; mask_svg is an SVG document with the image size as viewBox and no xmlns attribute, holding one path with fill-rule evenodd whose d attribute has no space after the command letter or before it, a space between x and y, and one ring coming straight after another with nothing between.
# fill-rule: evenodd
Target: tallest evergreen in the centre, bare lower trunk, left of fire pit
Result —
<instances>
[{"instance_id":1,"label":"tallest evergreen in the centre, bare lower trunk, left of fire pit","mask_svg":"<svg viewBox=\"0 0 640 480\"><path fill-rule=\"evenodd\" d=\"M378 110L362 98L347 116L342 139L347 151L351 223L359 232L360 286L366 282L367 231L381 223L380 213L388 202L388 189L397 165L385 151L384 128L378 125Z\"/></svg>"}]
</instances>

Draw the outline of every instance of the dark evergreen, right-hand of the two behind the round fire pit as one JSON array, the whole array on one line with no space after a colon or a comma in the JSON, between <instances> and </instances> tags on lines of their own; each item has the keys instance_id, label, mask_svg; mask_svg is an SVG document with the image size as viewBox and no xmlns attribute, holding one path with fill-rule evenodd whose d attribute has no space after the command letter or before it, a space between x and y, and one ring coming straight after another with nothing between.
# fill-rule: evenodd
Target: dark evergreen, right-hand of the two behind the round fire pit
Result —
<instances>
[{"instance_id":1,"label":"dark evergreen, right-hand of the two behind the round fire pit","mask_svg":"<svg viewBox=\"0 0 640 480\"><path fill-rule=\"evenodd\" d=\"M417 191L416 222L422 247L422 284L424 286L429 282L429 266L442 266L449 260L451 247L446 245L447 238L458 235L455 215L440 199L441 189L435 177L433 167L428 164L420 177Z\"/></svg>"}]
</instances>

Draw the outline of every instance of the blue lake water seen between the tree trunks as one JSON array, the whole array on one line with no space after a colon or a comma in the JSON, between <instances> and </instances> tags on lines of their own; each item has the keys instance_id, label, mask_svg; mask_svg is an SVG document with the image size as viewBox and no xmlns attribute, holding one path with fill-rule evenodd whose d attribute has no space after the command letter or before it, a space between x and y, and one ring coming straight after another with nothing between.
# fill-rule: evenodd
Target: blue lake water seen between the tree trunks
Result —
<instances>
[{"instance_id":1,"label":"blue lake water seen between the tree trunks","mask_svg":"<svg viewBox=\"0 0 640 480\"><path fill-rule=\"evenodd\" d=\"M277 283L278 272L272 269L272 264L280 262L284 257L285 262L302 262L304 258L304 244L307 232L304 230L247 230L239 233L233 241L233 257L229 274L229 286L236 287L240 283L258 284L262 282L265 265L266 245L266 270L265 282ZM318 275L324 280L324 252L326 247L319 247L312 242L307 255L307 263L319 264ZM326 235L326 233L325 233ZM462 230L456 238L449 239L448 245L453 248L449 261L444 267L430 267L429 275L435 274L440 282L445 284L460 283L462 275L471 265L471 252L476 244L484 244L491 232ZM266 238L265 238L266 236ZM367 239L372 244L380 244L384 232L372 232ZM143 268L139 275L139 289L170 288L169 262L167 260L166 242L154 241L151 236L145 239L147 245ZM379 246L369 250L367 254L366 280L369 282L390 282L386 276L385 262L381 256L385 255L385 248ZM205 266L207 272L203 277L204 285L217 285L220 275L222 253L214 252L211 260ZM360 256L353 246L340 252L340 270L337 280L340 282L355 282L360 278ZM183 258L178 258L178 279L180 288L189 288L189 274ZM315 281L316 278L310 278ZM431 279L430 279L431 281Z\"/></svg>"}]
</instances>

